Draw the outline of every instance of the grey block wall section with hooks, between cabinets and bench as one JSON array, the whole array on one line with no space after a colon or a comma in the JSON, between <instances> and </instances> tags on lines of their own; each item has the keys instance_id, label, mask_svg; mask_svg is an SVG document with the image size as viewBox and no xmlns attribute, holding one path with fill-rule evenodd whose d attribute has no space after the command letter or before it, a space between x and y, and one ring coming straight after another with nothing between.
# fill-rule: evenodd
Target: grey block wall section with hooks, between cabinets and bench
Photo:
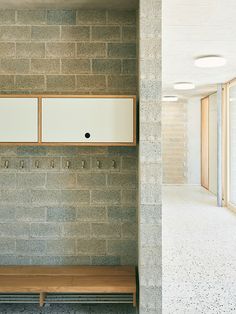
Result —
<instances>
[{"instance_id":1,"label":"grey block wall section with hooks, between cabinets and bench","mask_svg":"<svg viewBox=\"0 0 236 314\"><path fill-rule=\"evenodd\" d=\"M135 147L0 147L0 196L0 264L137 263Z\"/></svg>"}]
</instances>

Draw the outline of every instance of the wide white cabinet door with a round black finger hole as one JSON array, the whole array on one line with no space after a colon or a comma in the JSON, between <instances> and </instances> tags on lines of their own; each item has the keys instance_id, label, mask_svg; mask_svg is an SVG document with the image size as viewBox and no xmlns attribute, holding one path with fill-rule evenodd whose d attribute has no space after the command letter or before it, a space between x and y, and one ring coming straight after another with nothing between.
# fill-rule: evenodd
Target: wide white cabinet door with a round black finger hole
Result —
<instances>
[{"instance_id":1,"label":"wide white cabinet door with a round black finger hole","mask_svg":"<svg viewBox=\"0 0 236 314\"><path fill-rule=\"evenodd\" d=\"M42 98L42 143L135 143L134 97Z\"/></svg>"}]
</instances>

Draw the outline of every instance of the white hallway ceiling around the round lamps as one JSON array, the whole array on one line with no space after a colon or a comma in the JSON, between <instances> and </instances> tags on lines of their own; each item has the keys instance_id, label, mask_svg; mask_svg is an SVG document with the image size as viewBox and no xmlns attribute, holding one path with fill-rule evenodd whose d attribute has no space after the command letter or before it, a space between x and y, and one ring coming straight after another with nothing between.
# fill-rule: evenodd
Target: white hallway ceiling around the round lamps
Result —
<instances>
[{"instance_id":1,"label":"white hallway ceiling around the round lamps","mask_svg":"<svg viewBox=\"0 0 236 314\"><path fill-rule=\"evenodd\" d=\"M236 77L236 0L163 0L163 93L204 96ZM201 69L194 59L222 55L227 65ZM175 82L196 89L174 91Z\"/></svg>"}]
</instances>

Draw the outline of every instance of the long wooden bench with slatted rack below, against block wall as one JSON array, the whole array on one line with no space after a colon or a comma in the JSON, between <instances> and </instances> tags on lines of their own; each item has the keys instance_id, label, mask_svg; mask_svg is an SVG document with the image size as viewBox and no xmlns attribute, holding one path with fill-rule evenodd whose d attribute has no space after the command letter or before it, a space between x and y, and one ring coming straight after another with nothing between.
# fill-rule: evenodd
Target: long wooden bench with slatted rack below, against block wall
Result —
<instances>
[{"instance_id":1,"label":"long wooden bench with slatted rack below, against block wall","mask_svg":"<svg viewBox=\"0 0 236 314\"><path fill-rule=\"evenodd\" d=\"M0 266L0 303L132 303L129 266Z\"/></svg>"}]
</instances>

